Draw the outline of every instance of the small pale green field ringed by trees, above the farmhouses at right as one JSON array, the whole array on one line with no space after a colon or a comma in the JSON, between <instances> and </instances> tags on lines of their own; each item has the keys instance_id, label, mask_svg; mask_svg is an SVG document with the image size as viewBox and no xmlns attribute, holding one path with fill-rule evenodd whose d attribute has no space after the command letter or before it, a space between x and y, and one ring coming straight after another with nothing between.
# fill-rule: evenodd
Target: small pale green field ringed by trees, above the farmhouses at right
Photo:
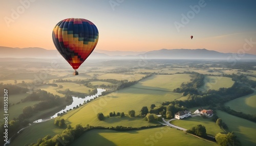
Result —
<instances>
[{"instance_id":1,"label":"small pale green field ringed by trees, above the farmhouses at right","mask_svg":"<svg viewBox=\"0 0 256 146\"><path fill-rule=\"evenodd\" d=\"M227 77L204 76L204 85L199 88L201 91L218 90L219 88L229 88L234 81Z\"/></svg>"}]
</instances>

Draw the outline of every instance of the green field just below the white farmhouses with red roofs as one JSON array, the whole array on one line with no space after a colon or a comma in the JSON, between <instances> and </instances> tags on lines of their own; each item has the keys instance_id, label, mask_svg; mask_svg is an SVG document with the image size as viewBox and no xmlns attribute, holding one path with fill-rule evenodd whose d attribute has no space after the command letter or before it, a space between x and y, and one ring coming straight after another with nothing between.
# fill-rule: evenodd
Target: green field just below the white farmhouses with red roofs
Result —
<instances>
[{"instance_id":1,"label":"green field just below the white farmhouses with red roofs","mask_svg":"<svg viewBox=\"0 0 256 146\"><path fill-rule=\"evenodd\" d=\"M185 129L190 129L197 125L203 125L206 128L206 133L212 136L215 136L220 132L224 132L214 121L211 120L211 118L202 118L201 116L188 117L171 122L172 124Z\"/></svg>"}]
</instances>

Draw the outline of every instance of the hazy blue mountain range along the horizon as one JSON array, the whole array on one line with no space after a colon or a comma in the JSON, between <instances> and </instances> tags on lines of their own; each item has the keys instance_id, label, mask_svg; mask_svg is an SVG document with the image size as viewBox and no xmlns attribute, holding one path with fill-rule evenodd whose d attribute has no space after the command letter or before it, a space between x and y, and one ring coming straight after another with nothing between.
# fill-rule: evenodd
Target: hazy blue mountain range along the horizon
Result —
<instances>
[{"instance_id":1,"label":"hazy blue mountain range along the horizon","mask_svg":"<svg viewBox=\"0 0 256 146\"><path fill-rule=\"evenodd\" d=\"M0 58L56 58L57 50L46 50L40 47L13 48L0 46ZM149 52L105 51L95 49L90 59L256 59L252 54L220 53L198 49L161 49ZM88 59L89 59L88 58Z\"/></svg>"}]
</instances>

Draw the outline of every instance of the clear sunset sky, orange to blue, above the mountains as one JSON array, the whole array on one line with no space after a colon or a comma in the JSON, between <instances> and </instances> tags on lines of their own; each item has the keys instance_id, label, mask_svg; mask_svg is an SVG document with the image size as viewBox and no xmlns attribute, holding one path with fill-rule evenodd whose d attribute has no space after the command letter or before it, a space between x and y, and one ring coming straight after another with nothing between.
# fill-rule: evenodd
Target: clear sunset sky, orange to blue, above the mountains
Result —
<instances>
[{"instance_id":1,"label":"clear sunset sky, orange to blue, above the mountains","mask_svg":"<svg viewBox=\"0 0 256 146\"><path fill-rule=\"evenodd\" d=\"M1 1L0 46L54 50L54 26L62 19L84 18L98 28L95 50L206 48L256 55L255 6L253 0Z\"/></svg>"}]
</instances>

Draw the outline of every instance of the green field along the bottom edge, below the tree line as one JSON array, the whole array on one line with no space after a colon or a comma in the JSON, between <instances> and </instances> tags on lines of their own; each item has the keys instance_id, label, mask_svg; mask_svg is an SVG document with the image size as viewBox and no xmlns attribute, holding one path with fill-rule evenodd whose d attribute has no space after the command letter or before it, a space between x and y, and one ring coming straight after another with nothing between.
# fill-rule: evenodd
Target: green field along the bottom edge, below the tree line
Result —
<instances>
[{"instance_id":1,"label":"green field along the bottom edge, below the tree line","mask_svg":"<svg viewBox=\"0 0 256 146\"><path fill-rule=\"evenodd\" d=\"M92 130L72 145L217 145L169 127L117 132Z\"/></svg>"}]
</instances>

